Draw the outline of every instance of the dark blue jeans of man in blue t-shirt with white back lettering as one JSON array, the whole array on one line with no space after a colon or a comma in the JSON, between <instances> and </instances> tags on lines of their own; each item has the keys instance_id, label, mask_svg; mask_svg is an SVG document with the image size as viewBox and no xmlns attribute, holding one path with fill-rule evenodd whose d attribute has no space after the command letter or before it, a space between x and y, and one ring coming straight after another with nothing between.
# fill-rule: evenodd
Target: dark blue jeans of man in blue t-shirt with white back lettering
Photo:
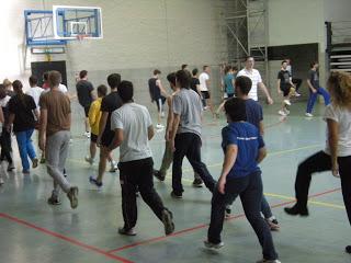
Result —
<instances>
[{"instance_id":1,"label":"dark blue jeans of man in blue t-shirt with white back lettering","mask_svg":"<svg viewBox=\"0 0 351 263\"><path fill-rule=\"evenodd\" d=\"M262 192L261 172L253 172L245 178L227 179L224 195L216 187L212 197L211 224L207 233L208 241L212 243L220 242L225 206L228 201L235 199L240 195L245 215L262 247L263 258L265 260L276 260L278 254L274 249L271 230L260 213Z\"/></svg>"}]
</instances>

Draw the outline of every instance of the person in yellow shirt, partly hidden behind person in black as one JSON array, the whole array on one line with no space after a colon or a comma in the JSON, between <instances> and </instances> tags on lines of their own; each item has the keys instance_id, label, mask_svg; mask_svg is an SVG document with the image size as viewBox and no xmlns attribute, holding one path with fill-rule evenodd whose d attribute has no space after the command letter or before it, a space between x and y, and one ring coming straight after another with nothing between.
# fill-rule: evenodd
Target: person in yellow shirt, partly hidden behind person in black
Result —
<instances>
[{"instance_id":1,"label":"person in yellow shirt, partly hidden behind person in black","mask_svg":"<svg viewBox=\"0 0 351 263\"><path fill-rule=\"evenodd\" d=\"M107 87L105 85L99 85L98 87L98 99L91 104L88 113L89 118L89 125L91 128L91 137L90 137L90 155L86 157L86 161L90 164L93 164L94 158L97 155L97 141L98 141L98 135L99 135L99 125L100 125L100 118L101 118L101 102L102 99L107 94ZM115 162L112 159L112 156L110 153L109 156L109 162L111 163L111 170L110 172L115 171Z\"/></svg>"}]
</instances>

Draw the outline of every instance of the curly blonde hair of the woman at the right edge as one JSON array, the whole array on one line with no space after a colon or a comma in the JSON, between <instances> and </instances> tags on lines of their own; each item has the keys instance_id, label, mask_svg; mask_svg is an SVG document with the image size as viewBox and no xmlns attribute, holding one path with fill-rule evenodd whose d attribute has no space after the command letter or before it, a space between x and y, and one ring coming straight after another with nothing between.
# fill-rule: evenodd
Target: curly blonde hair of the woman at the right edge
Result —
<instances>
[{"instance_id":1,"label":"curly blonde hair of the woman at the right edge","mask_svg":"<svg viewBox=\"0 0 351 263\"><path fill-rule=\"evenodd\" d=\"M328 79L328 91L337 106L351 106L351 75L343 71L331 72Z\"/></svg>"}]
</instances>

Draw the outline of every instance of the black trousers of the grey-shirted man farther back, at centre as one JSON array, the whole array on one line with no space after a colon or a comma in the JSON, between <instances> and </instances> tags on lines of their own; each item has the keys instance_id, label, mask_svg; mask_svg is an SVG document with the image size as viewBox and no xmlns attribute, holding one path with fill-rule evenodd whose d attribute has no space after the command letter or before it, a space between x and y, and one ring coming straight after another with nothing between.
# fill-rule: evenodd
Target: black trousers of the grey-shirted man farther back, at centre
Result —
<instances>
[{"instance_id":1,"label":"black trousers of the grey-shirted man farther back, at centre","mask_svg":"<svg viewBox=\"0 0 351 263\"><path fill-rule=\"evenodd\" d=\"M182 163L188 158L195 173L204 181L206 187L213 192L216 181L208 172L206 164L201 161L201 138L196 134L178 134L174 139L176 151L173 153L172 187L176 194L184 192L182 185Z\"/></svg>"}]
</instances>

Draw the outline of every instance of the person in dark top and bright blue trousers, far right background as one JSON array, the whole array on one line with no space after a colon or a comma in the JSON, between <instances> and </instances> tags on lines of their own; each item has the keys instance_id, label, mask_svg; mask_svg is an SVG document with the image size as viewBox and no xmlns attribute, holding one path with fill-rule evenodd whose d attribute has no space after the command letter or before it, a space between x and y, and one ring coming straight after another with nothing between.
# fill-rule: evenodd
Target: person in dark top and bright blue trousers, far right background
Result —
<instances>
[{"instance_id":1,"label":"person in dark top and bright blue trousers, far right background","mask_svg":"<svg viewBox=\"0 0 351 263\"><path fill-rule=\"evenodd\" d=\"M318 62L310 64L310 70L308 72L307 84L309 88L309 98L307 102L306 116L313 117L312 111L317 101L318 95L322 95L326 106L330 103L330 94L324 88L319 85L319 76L318 76Z\"/></svg>"}]
</instances>

